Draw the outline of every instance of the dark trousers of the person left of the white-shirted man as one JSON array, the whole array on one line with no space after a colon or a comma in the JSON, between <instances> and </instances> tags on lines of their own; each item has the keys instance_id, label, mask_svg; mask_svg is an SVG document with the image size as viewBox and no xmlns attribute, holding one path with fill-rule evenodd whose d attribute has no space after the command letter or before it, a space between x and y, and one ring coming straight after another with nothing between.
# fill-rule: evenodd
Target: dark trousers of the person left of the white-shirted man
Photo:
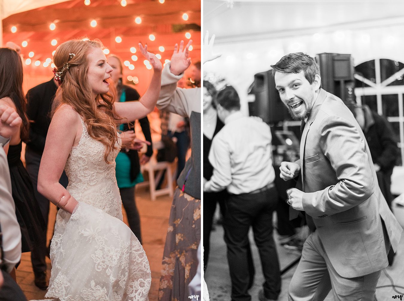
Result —
<instances>
[{"instance_id":1,"label":"dark trousers of the person left of the white-shirted man","mask_svg":"<svg viewBox=\"0 0 404 301\"><path fill-rule=\"evenodd\" d=\"M204 192L203 194L203 269L206 270L210 250L210 232L212 231L213 217L216 206L219 203L220 212L225 216L225 202L229 194L223 190L220 192Z\"/></svg>"}]
</instances>

